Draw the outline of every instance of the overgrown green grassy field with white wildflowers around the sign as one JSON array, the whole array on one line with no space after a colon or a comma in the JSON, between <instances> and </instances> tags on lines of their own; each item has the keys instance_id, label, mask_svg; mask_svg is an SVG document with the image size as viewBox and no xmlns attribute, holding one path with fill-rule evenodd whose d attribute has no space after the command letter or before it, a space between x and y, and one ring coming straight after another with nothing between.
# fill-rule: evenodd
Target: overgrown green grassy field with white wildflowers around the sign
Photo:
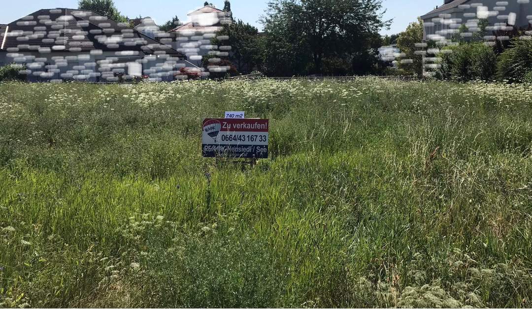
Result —
<instances>
[{"instance_id":1,"label":"overgrown green grassy field with white wildflowers around the sign","mask_svg":"<svg viewBox=\"0 0 532 309\"><path fill-rule=\"evenodd\" d=\"M0 93L0 307L532 307L532 86ZM270 159L201 157L226 110Z\"/></svg>"}]
</instances>

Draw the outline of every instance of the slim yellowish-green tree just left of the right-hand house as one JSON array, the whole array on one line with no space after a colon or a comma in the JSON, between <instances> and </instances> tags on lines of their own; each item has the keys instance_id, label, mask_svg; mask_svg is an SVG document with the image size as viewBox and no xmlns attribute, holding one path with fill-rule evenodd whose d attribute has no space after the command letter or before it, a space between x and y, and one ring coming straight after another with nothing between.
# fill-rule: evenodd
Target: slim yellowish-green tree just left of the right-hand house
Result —
<instances>
[{"instance_id":1,"label":"slim yellowish-green tree just left of the right-hand house","mask_svg":"<svg viewBox=\"0 0 532 309\"><path fill-rule=\"evenodd\" d=\"M418 17L418 22L412 22L406 27L406 30L399 34L397 38L397 47L406 57L399 61L399 69L405 70L409 74L423 74L423 58L416 55L418 51L416 44L423 41L423 21Z\"/></svg>"}]
</instances>

